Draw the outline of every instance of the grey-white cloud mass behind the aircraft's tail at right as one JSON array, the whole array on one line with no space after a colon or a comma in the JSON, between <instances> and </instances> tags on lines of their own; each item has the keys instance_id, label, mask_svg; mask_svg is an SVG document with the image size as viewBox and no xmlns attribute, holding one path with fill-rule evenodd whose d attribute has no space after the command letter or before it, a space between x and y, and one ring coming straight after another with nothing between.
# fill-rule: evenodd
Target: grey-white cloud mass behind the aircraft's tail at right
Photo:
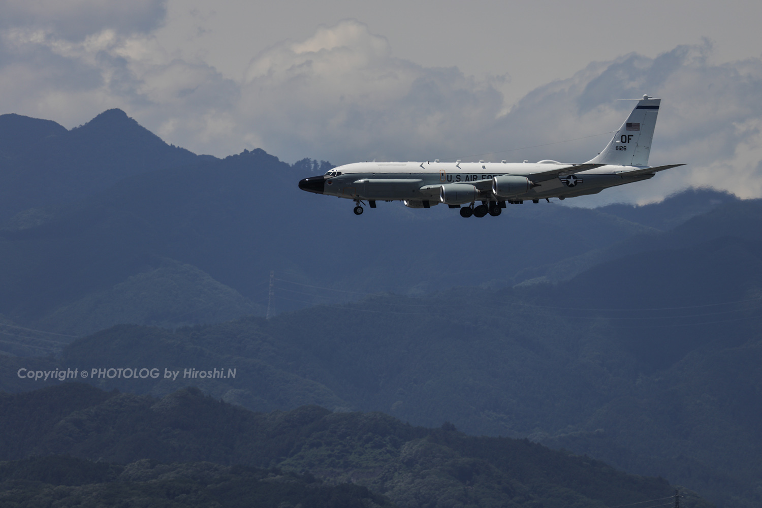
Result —
<instances>
[{"instance_id":1,"label":"grey-white cloud mass behind the aircraft's tail at right","mask_svg":"<svg viewBox=\"0 0 762 508\"><path fill-rule=\"evenodd\" d=\"M572 78L537 88L501 122L508 130L513 130L508 124L524 126L522 133L516 133L517 142L542 139L543 133L550 139L569 139L576 137L575 133L582 136L620 126L632 104L616 98L644 93L661 97L649 162L688 166L620 192L636 192L630 199L641 202L687 186L760 197L762 59L716 65L708 62L711 52L711 44L705 42L678 46L655 59L633 54L592 64ZM549 129L543 131L543 125ZM569 147L548 147L547 151L551 158L565 152L565 160L581 161L596 146L596 152L600 151L605 142L596 138ZM536 150L531 152L536 156Z\"/></svg>"}]
</instances>

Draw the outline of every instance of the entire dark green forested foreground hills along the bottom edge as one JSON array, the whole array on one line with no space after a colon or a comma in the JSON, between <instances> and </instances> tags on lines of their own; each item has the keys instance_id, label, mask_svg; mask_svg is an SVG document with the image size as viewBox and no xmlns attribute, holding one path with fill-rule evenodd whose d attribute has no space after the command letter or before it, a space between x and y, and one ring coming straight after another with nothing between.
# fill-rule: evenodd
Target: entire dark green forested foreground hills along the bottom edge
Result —
<instances>
[{"instance_id":1,"label":"entire dark green forested foreground hills along the bottom edge","mask_svg":"<svg viewBox=\"0 0 762 508\"><path fill-rule=\"evenodd\" d=\"M156 496L157 490L181 487L193 500L215 492L232 499L231 489L249 496L255 490L249 486L246 492L247 476L255 481L283 476L277 470L229 465L281 468L305 475L290 476L287 485L292 487L292 498L307 496L310 489L303 484L309 483L307 475L314 474L328 485L349 482L367 487L405 507L603 508L645 500L668 503L674 493L663 479L623 474L602 462L554 452L527 440L469 437L451 424L432 430L411 427L384 414L331 413L314 406L255 414L204 397L195 388L158 400L69 384L2 395L0 409L0 458L18 461L66 454L99 461L59 458L40 464L27 460L16 462L15 467L0 462L0 481L5 480L5 485L24 479L82 485L79 492L63 489L70 497L97 499L104 490L118 490L128 498L140 490ZM20 422L31 424L21 430ZM74 462L75 467L62 468L60 462L65 461ZM109 489L102 486L106 482L111 482ZM283 483L281 479L265 485L284 490ZM150 489L147 484L152 484ZM328 497L343 492L350 500L366 498L385 504L383 497L360 487L343 489L322 487L310 494ZM42 490L39 484L27 487L29 494L35 490ZM27 492L12 495L21 497ZM262 494L274 497L272 492ZM690 492L683 495L684 506L708 506Z\"/></svg>"}]
</instances>

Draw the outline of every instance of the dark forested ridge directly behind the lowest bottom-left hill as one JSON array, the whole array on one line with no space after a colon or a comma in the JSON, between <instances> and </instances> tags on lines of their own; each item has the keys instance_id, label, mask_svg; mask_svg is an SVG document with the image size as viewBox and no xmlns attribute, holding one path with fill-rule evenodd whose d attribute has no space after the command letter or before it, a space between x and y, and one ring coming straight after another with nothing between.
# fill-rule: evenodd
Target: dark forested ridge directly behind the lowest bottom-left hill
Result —
<instances>
[{"instance_id":1,"label":"dark forested ridge directly behind the lowest bottom-left hill","mask_svg":"<svg viewBox=\"0 0 762 508\"><path fill-rule=\"evenodd\" d=\"M312 473L330 484L351 481L404 507L456 502L603 508L670 497L674 492L661 478L623 474L590 458L526 440L469 437L452 425L425 429L384 414L331 413L315 406L255 414L204 397L194 388L160 400L69 385L46 388L40 394L3 394L3 439L17 437L8 427L8 417L49 420L45 405L29 404L27 399L44 395L50 406L55 399L74 394L89 398L77 404L84 409L45 424L46 432L35 433L37 444L32 430L18 436L16 455L68 452L89 460L97 455L117 464L134 463L140 457L264 465ZM2 459L11 458L3 449ZM695 494L683 494L686 506L708 506Z\"/></svg>"}]
</instances>

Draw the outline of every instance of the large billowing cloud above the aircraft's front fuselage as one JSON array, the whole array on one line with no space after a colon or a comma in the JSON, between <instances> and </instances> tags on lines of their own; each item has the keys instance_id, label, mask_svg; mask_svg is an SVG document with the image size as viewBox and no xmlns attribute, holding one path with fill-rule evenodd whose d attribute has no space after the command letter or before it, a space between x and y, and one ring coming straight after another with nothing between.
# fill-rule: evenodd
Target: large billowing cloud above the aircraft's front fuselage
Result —
<instances>
[{"instance_id":1,"label":"large billowing cloud above the aircraft's front fuselage","mask_svg":"<svg viewBox=\"0 0 762 508\"><path fill-rule=\"evenodd\" d=\"M494 121L501 105L498 91L458 69L392 57L386 39L357 21L265 51L242 86L242 112L266 119L268 146L345 160L426 157Z\"/></svg>"}]
</instances>

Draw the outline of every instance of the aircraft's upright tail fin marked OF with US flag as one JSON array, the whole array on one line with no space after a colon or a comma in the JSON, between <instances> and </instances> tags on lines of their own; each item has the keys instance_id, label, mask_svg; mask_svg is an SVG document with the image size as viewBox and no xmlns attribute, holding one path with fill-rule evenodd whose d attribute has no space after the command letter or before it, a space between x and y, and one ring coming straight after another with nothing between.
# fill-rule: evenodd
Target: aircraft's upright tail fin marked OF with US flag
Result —
<instances>
[{"instance_id":1,"label":"aircraft's upright tail fin marked OF with US flag","mask_svg":"<svg viewBox=\"0 0 762 508\"><path fill-rule=\"evenodd\" d=\"M620 166L647 166L661 99L644 95L616 131L603 152L588 162Z\"/></svg>"}]
</instances>

